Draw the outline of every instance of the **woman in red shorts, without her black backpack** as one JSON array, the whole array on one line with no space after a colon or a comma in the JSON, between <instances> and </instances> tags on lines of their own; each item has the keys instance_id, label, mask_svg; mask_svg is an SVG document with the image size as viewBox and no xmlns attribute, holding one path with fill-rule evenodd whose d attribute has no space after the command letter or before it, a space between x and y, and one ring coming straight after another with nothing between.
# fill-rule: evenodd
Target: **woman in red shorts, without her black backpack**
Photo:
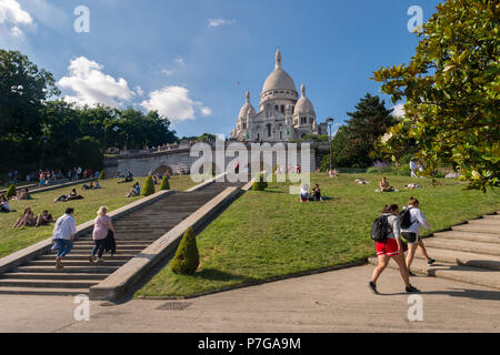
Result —
<instances>
[{"instance_id":1,"label":"woman in red shorts, without her black backpack","mask_svg":"<svg viewBox=\"0 0 500 355\"><path fill-rule=\"evenodd\" d=\"M370 290L374 294L379 293L377 291L377 280L380 277L380 274L382 274L382 272L386 270L387 265L389 265L389 260L392 257L399 266L399 272L401 273L401 277L404 281L406 291L408 293L419 292L419 290L410 285L410 277L408 275L408 268L404 262L403 244L401 242L401 229L399 225L398 205L397 204L387 205L382 211L382 215L388 216L390 233L387 235L387 240L384 242L376 243L377 257L379 258L379 264L373 271L373 275L369 283Z\"/></svg>"}]
</instances>

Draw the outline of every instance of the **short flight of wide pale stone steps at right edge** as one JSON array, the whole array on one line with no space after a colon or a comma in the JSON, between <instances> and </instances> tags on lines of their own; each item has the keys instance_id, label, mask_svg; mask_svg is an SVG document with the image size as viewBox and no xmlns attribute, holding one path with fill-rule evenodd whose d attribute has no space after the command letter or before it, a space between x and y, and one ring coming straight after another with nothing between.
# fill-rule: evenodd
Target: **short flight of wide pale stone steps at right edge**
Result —
<instances>
[{"instance_id":1,"label":"short flight of wide pale stone steps at right edge","mask_svg":"<svg viewBox=\"0 0 500 355\"><path fill-rule=\"evenodd\" d=\"M417 251L413 273L500 290L500 211L434 233L423 243L436 263L427 265ZM369 261L377 265L377 257ZM389 265L397 267L392 262Z\"/></svg>"}]
</instances>

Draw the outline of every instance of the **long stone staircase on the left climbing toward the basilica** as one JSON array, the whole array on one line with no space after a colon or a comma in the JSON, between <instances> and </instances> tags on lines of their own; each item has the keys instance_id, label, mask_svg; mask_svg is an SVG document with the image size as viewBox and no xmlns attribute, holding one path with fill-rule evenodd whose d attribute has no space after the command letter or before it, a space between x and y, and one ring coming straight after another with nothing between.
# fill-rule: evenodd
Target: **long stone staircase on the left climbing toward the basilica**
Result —
<instances>
[{"instance_id":1,"label":"long stone staircase on the left climbing toward the basilica","mask_svg":"<svg viewBox=\"0 0 500 355\"><path fill-rule=\"evenodd\" d=\"M154 240L169 232L191 213L229 186L241 183L213 183L193 192L174 192L140 210L113 221L117 254L104 254L100 265L91 265L91 233L79 236L63 260L64 268L56 270L56 254L44 254L8 273L0 274L0 294L78 295L114 273Z\"/></svg>"}]
</instances>

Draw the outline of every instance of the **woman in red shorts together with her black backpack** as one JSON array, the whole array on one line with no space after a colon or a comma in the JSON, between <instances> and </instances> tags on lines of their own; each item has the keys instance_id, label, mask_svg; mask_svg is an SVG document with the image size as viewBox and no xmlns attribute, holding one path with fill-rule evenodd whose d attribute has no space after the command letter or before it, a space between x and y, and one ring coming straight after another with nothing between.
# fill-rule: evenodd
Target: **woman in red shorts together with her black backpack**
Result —
<instances>
[{"instance_id":1,"label":"woman in red shorts together with her black backpack","mask_svg":"<svg viewBox=\"0 0 500 355\"><path fill-rule=\"evenodd\" d=\"M373 270L373 275L368 284L370 290L374 294L379 294L377 281L389 265L389 261L392 257L399 266L406 291L408 293L419 292L418 288L410 284L407 264L404 263L403 243L401 242L399 225L399 207L397 204L386 205L382 210L382 215L374 220L371 229L371 239L376 241L379 264Z\"/></svg>"}]
</instances>

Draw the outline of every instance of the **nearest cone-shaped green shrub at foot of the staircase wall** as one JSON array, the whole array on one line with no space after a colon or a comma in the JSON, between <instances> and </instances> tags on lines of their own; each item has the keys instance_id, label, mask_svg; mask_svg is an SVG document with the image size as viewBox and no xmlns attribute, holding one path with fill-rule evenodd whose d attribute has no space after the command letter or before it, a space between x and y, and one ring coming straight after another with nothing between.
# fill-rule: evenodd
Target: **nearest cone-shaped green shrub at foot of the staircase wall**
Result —
<instances>
[{"instance_id":1,"label":"nearest cone-shaped green shrub at foot of the staircase wall","mask_svg":"<svg viewBox=\"0 0 500 355\"><path fill-rule=\"evenodd\" d=\"M176 274L192 275L200 264L200 254L198 252L197 239L192 227L188 227L182 241L177 248L171 268Z\"/></svg>"}]
</instances>

